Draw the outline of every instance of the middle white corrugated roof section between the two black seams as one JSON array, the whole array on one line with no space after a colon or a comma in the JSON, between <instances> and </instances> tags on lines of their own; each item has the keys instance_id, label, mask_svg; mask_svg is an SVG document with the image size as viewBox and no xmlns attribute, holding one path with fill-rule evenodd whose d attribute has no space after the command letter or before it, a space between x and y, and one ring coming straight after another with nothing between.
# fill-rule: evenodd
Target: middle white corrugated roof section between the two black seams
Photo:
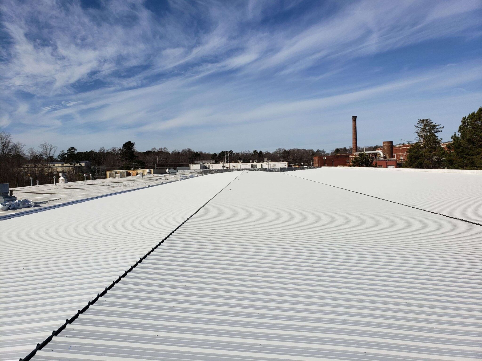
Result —
<instances>
[{"instance_id":1,"label":"middle white corrugated roof section between the two black seams","mask_svg":"<svg viewBox=\"0 0 482 361\"><path fill-rule=\"evenodd\" d=\"M34 360L481 359L481 226L284 173L196 181L228 175Z\"/></svg>"}]
</instances>

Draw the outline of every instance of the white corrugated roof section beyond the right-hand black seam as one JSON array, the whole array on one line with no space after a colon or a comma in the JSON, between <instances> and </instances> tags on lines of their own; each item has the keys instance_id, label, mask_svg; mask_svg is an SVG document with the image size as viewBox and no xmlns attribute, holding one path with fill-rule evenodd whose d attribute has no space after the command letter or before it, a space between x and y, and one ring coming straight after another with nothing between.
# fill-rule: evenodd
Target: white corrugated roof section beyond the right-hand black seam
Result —
<instances>
[{"instance_id":1,"label":"white corrugated roof section beyond the right-hand black seam","mask_svg":"<svg viewBox=\"0 0 482 361\"><path fill-rule=\"evenodd\" d=\"M287 173L482 224L480 170L323 167Z\"/></svg>"}]
</instances>

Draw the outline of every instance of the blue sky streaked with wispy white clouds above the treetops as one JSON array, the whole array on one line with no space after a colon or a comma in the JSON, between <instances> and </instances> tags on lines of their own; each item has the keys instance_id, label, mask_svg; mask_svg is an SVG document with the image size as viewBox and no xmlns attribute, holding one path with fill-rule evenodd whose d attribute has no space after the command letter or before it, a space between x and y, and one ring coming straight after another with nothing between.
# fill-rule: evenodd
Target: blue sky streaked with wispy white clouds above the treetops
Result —
<instances>
[{"instance_id":1,"label":"blue sky streaked with wispy white clouds above the treetops","mask_svg":"<svg viewBox=\"0 0 482 361\"><path fill-rule=\"evenodd\" d=\"M60 149L332 150L482 106L482 1L0 2L0 130Z\"/></svg>"}]
</instances>

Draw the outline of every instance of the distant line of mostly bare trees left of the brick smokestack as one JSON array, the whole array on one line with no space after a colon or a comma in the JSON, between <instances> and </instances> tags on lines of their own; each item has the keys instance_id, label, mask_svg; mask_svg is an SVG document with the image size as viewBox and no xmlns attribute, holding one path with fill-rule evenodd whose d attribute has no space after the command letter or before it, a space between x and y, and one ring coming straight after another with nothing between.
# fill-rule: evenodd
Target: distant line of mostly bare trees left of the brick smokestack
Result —
<instances>
[{"instance_id":1,"label":"distant line of mostly bare trees left of the brick smokestack","mask_svg":"<svg viewBox=\"0 0 482 361\"><path fill-rule=\"evenodd\" d=\"M351 149L351 148L350 148ZM38 148L25 149L22 142L14 142L12 135L6 131L0 132L0 182L10 183L11 187L30 185L30 177L34 183L53 183L53 177L58 176L57 168L51 162L61 161L66 168L69 181L83 181L84 172L90 173L91 168L81 166L81 162L91 162L92 170L105 176L106 170L138 169L138 168L177 168L187 167L195 161L214 162L263 162L288 161L291 164L311 165L313 156L329 154L325 150L300 148L278 148L273 152L232 150L209 153L195 151L191 148L169 151L165 147L151 148L145 152L135 149L135 143L128 141L120 147L99 150L78 151L75 147L61 150L54 144L43 142ZM347 148L337 148L331 154L348 151Z\"/></svg>"}]
</instances>

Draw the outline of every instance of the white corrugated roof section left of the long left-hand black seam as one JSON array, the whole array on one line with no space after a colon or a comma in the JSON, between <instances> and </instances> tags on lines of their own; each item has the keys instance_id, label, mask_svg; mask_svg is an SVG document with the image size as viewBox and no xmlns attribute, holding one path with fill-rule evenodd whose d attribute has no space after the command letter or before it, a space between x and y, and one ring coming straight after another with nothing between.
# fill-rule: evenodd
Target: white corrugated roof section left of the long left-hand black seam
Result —
<instances>
[{"instance_id":1,"label":"white corrugated roof section left of the long left-hand black seam","mask_svg":"<svg viewBox=\"0 0 482 361\"><path fill-rule=\"evenodd\" d=\"M0 220L1 358L25 357L235 177L203 176Z\"/></svg>"}]
</instances>

